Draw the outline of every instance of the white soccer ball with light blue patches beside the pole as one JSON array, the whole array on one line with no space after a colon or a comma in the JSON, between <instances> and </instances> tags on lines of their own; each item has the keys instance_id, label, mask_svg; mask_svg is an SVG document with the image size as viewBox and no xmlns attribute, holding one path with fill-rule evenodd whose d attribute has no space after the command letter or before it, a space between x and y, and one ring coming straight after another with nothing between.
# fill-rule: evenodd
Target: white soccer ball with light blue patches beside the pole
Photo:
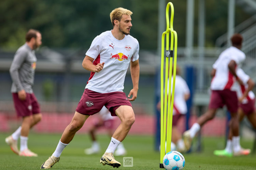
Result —
<instances>
[{"instance_id":1,"label":"white soccer ball with light blue patches beside the pole","mask_svg":"<svg viewBox=\"0 0 256 170\"><path fill-rule=\"evenodd\" d=\"M163 167L166 170L181 170L184 166L185 158L180 152L171 151L163 157Z\"/></svg>"}]
</instances>

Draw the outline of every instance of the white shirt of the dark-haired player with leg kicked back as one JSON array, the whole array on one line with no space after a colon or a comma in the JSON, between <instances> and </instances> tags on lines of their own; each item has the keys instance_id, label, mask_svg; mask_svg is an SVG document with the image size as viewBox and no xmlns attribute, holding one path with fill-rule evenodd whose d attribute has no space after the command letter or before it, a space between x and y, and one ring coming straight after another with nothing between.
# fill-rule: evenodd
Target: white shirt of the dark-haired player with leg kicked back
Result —
<instances>
[{"instance_id":1,"label":"white shirt of the dark-haired player with leg kicked back","mask_svg":"<svg viewBox=\"0 0 256 170\"><path fill-rule=\"evenodd\" d=\"M234 60L238 66L245 60L244 52L232 46L219 55L218 59L213 64L213 68L216 69L216 72L211 82L211 90L230 89L235 91L232 86L236 79L228 69L228 64L231 60Z\"/></svg>"}]
</instances>

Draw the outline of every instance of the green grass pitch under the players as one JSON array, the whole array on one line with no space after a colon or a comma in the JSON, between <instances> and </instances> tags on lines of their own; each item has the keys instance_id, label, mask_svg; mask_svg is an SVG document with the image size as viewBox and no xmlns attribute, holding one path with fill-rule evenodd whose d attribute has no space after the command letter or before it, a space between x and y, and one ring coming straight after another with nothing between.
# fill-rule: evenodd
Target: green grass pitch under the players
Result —
<instances>
[{"instance_id":1,"label":"green grass pitch under the players","mask_svg":"<svg viewBox=\"0 0 256 170\"><path fill-rule=\"evenodd\" d=\"M9 134L0 134L0 169L40 169L42 163L54 152L61 134L35 134L29 136L29 148L38 153L38 157L20 157L15 155L4 139ZM88 134L76 134L68 147L65 148L60 156L59 163L56 163L52 169L113 169L113 167L99 163L100 157L109 145L110 139L106 135L98 135L101 145L100 154L85 155L84 149L91 146ZM123 156L116 156L122 165L119 167L129 170L160 169L160 153L154 151L153 136L128 135L124 140L124 146L127 149L126 156L133 157L133 167L123 167ZM200 153L186 153L185 168L187 170L216 170L216 169L256 169L256 155L239 157L217 157L213 155L215 149L224 148L224 138L206 138L203 137L203 151ZM241 140L242 146L253 148L253 140Z\"/></svg>"}]
</instances>

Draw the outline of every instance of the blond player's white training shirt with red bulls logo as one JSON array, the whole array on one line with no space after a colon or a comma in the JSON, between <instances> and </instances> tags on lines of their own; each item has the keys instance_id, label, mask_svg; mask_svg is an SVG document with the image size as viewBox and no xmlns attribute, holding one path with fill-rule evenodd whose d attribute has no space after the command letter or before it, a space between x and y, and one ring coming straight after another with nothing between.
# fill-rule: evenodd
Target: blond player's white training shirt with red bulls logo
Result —
<instances>
[{"instance_id":1,"label":"blond player's white training shirt with red bulls logo","mask_svg":"<svg viewBox=\"0 0 256 170\"><path fill-rule=\"evenodd\" d=\"M95 59L94 65L105 64L100 72L91 72L85 88L99 93L123 91L130 61L139 59L139 42L130 35L118 40L106 31L94 38L86 55Z\"/></svg>"}]
</instances>

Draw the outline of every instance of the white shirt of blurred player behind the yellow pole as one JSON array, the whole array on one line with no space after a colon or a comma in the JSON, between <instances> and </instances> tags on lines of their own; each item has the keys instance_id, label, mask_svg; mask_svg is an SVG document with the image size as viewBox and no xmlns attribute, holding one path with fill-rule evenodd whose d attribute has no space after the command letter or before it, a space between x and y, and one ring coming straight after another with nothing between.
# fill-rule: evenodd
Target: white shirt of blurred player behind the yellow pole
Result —
<instances>
[{"instance_id":1,"label":"white shirt of blurred player behind the yellow pole","mask_svg":"<svg viewBox=\"0 0 256 170\"><path fill-rule=\"evenodd\" d=\"M172 82L173 82L173 77L171 81L171 89L172 89ZM169 80L168 80L168 87L169 87ZM168 91L169 89L167 90L167 92ZM188 85L180 75L176 75L174 101L173 101L173 115L177 114L176 112L180 114L187 113L187 104L186 104L186 100L184 99L185 94L190 94Z\"/></svg>"}]
</instances>

